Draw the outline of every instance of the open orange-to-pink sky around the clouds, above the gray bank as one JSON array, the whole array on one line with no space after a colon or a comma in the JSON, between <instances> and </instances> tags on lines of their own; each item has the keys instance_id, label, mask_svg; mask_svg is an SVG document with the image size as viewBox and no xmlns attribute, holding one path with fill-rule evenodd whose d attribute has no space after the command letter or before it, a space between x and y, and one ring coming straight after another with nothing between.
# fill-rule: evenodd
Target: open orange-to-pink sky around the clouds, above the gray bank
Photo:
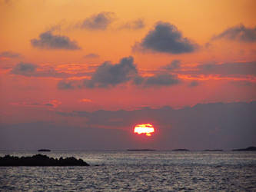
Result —
<instances>
[{"instance_id":1,"label":"open orange-to-pink sky around the clouds, above the gray bank","mask_svg":"<svg viewBox=\"0 0 256 192\"><path fill-rule=\"evenodd\" d=\"M180 108L201 102L252 101L256 97L255 74L190 74L188 66L221 65L255 61L255 41L231 41L214 35L238 25L254 28L255 1L1 1L0 53L17 53L18 57L1 56L1 103L5 108L18 108L17 103L44 103L58 100L56 109L97 110L118 108L159 107L170 105ZM111 12L111 23L104 30L80 28L78 25L98 15ZM141 28L121 28L141 19ZM169 54L159 51L133 51L157 22L175 25L182 37L198 45L193 52ZM51 31L52 30L52 31ZM52 35L76 41L80 49L48 49L32 46L45 31ZM209 46L206 46L209 43ZM95 54L98 57L85 58ZM138 74L154 76L165 71L165 65L180 60L181 68L171 71L181 84L173 86L140 87L130 82L108 88L75 88L60 90L58 82L91 78L104 61L118 64L131 55ZM15 74L18 63L35 64L38 72L63 72L67 77L55 75ZM255 65L255 63L254 63ZM253 67L253 66L252 66ZM254 67L253 67L254 68ZM229 69L227 69L229 70ZM244 69L245 71L247 68ZM251 69L248 68L248 71ZM86 74L78 75L79 72ZM74 74L73 76L71 74ZM239 76L239 77L238 77ZM198 78L199 77L199 78ZM196 86L190 87L191 81ZM249 84L249 85L248 85ZM228 90L228 91L227 91ZM91 102L79 102L88 99ZM13 105L16 103L16 105ZM11 105L10 105L11 104ZM24 108L24 105L23 107ZM23 109L21 109L23 110Z\"/></svg>"}]
</instances>

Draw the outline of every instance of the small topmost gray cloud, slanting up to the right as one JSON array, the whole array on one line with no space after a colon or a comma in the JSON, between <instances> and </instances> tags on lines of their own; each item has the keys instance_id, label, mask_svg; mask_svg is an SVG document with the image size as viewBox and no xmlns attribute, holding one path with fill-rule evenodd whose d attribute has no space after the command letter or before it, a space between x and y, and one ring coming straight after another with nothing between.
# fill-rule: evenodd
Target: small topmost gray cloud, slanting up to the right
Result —
<instances>
[{"instance_id":1,"label":"small topmost gray cloud, slanting up to the right","mask_svg":"<svg viewBox=\"0 0 256 192\"><path fill-rule=\"evenodd\" d=\"M78 27L89 30L105 30L113 22L114 18L115 14L113 12L101 12L98 15L85 18Z\"/></svg>"}]
</instances>

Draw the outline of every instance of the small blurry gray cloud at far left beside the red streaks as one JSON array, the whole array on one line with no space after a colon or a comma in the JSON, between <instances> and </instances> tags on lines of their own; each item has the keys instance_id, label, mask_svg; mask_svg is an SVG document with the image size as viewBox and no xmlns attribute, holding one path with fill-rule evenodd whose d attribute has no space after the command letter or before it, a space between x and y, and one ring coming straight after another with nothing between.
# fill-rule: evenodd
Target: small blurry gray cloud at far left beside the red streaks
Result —
<instances>
[{"instance_id":1,"label":"small blurry gray cloud at far left beside the red streaks","mask_svg":"<svg viewBox=\"0 0 256 192\"><path fill-rule=\"evenodd\" d=\"M18 63L15 65L14 68L12 68L11 73L12 74L21 74L24 76L33 76L33 74L36 71L36 68L38 68L37 65L31 64L31 63Z\"/></svg>"}]
</instances>

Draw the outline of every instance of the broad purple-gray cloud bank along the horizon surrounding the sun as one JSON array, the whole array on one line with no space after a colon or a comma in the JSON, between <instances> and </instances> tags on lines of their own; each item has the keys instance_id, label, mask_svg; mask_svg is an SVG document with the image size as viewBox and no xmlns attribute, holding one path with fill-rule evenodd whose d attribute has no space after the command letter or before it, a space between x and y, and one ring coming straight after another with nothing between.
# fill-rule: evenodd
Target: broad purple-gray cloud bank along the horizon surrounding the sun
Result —
<instances>
[{"instance_id":1,"label":"broad purple-gray cloud bank along the horizon surrounding the sun","mask_svg":"<svg viewBox=\"0 0 256 192\"><path fill-rule=\"evenodd\" d=\"M180 109L48 111L48 114L51 119L61 121L43 121L43 115L36 115L40 117L38 121L26 123L16 123L15 116L12 122L2 119L0 148L124 150L146 144L148 148L160 150L180 147L201 150L256 145L256 101L196 104ZM150 142L141 144L134 139L132 129L136 124L145 123L153 124L156 133Z\"/></svg>"}]
</instances>

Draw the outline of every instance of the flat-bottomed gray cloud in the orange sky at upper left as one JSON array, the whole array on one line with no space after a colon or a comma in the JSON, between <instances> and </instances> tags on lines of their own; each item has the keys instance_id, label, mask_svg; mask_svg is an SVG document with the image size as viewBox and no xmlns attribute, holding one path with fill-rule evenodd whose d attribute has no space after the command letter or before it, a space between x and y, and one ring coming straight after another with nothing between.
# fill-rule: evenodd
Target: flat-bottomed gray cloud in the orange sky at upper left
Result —
<instances>
[{"instance_id":1,"label":"flat-bottomed gray cloud in the orange sky at upper left","mask_svg":"<svg viewBox=\"0 0 256 192\"><path fill-rule=\"evenodd\" d=\"M76 41L71 41L67 36L53 35L52 31L45 31L39 35L39 38L33 38L31 44L35 48L42 49L81 49Z\"/></svg>"}]
</instances>

